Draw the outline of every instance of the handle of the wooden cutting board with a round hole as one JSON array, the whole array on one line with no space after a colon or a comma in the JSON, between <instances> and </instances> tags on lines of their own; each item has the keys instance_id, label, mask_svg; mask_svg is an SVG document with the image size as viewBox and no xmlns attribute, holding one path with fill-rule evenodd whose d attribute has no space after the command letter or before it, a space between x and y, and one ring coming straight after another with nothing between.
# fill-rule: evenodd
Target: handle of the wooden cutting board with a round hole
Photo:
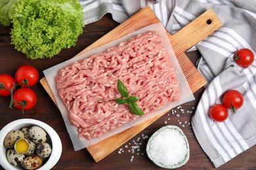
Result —
<instances>
[{"instance_id":1,"label":"handle of the wooden cutting board with a round hole","mask_svg":"<svg viewBox=\"0 0 256 170\"><path fill-rule=\"evenodd\" d=\"M213 9L209 9L174 35L169 35L173 50L179 52L176 56L198 44L198 42L211 35L221 25L223 23L219 20Z\"/></svg>"}]
</instances>

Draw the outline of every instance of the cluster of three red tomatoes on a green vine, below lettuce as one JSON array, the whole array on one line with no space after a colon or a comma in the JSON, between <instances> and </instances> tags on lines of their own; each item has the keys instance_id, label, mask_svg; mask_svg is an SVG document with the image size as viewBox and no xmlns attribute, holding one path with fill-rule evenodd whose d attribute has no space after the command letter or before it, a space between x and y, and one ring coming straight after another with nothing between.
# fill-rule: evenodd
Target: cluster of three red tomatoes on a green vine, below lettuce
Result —
<instances>
[{"instance_id":1,"label":"cluster of three red tomatoes on a green vine, below lettuce","mask_svg":"<svg viewBox=\"0 0 256 170\"><path fill-rule=\"evenodd\" d=\"M37 103L37 95L31 89L39 80L39 73L32 65L21 65L15 76L0 74L0 96L11 95L12 106L21 110L32 109Z\"/></svg>"}]
</instances>

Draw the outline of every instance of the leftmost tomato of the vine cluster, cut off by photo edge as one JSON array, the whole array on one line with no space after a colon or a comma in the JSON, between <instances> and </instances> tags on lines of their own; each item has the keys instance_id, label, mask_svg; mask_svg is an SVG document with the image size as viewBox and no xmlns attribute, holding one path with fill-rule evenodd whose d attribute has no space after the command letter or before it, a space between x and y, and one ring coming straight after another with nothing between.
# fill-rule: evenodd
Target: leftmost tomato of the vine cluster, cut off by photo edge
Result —
<instances>
[{"instance_id":1,"label":"leftmost tomato of the vine cluster, cut off by photo edge","mask_svg":"<svg viewBox=\"0 0 256 170\"><path fill-rule=\"evenodd\" d=\"M11 88L15 84L15 80L11 75L8 74L0 74L0 95L8 96L11 95ZM15 87L14 89L15 90Z\"/></svg>"}]
</instances>

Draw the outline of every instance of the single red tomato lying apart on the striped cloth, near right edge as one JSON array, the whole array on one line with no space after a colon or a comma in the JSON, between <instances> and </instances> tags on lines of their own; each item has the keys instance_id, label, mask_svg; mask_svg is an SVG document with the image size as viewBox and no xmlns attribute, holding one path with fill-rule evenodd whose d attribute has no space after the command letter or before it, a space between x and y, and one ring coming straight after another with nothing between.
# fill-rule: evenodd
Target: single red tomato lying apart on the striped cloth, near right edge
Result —
<instances>
[{"instance_id":1,"label":"single red tomato lying apart on the striped cloth, near right edge","mask_svg":"<svg viewBox=\"0 0 256 170\"><path fill-rule=\"evenodd\" d=\"M234 54L234 61L240 67L248 67L254 61L254 54L248 48L242 48Z\"/></svg>"}]
</instances>

